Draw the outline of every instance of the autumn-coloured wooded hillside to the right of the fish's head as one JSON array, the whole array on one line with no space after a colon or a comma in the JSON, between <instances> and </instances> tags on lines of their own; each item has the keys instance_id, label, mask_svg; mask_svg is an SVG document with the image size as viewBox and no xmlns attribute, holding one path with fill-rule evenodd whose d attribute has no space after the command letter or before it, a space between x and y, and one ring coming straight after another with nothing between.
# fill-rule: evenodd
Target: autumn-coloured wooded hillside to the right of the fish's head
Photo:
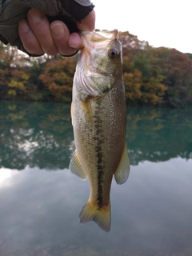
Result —
<instances>
[{"instance_id":1,"label":"autumn-coloured wooded hillside to the right of the fish's head","mask_svg":"<svg viewBox=\"0 0 192 256\"><path fill-rule=\"evenodd\" d=\"M128 104L192 106L192 54L120 33Z\"/></svg>"}]
</instances>

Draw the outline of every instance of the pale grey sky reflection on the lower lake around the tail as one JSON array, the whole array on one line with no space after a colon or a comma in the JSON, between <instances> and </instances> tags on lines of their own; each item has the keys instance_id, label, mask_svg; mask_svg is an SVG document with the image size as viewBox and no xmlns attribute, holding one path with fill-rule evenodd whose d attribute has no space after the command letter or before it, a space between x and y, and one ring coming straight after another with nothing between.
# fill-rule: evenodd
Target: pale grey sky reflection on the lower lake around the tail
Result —
<instances>
[{"instance_id":1,"label":"pale grey sky reflection on the lower lake around the tail","mask_svg":"<svg viewBox=\"0 0 192 256\"><path fill-rule=\"evenodd\" d=\"M0 255L190 256L191 170L182 158L132 166L125 185L112 184L110 234L78 222L89 185L68 169L9 170L0 186Z\"/></svg>"}]
</instances>

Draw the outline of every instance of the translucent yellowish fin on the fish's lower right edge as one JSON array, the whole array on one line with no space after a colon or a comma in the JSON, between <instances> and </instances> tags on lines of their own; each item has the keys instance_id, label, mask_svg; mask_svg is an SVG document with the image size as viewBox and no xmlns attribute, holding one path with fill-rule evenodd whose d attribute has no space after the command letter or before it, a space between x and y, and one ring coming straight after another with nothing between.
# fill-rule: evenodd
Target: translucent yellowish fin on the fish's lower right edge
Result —
<instances>
[{"instance_id":1,"label":"translucent yellowish fin on the fish's lower right edge","mask_svg":"<svg viewBox=\"0 0 192 256\"><path fill-rule=\"evenodd\" d=\"M122 159L118 165L118 169L114 172L115 181L118 184L125 183L130 174L130 158L127 152L127 147L125 144Z\"/></svg>"}]
</instances>

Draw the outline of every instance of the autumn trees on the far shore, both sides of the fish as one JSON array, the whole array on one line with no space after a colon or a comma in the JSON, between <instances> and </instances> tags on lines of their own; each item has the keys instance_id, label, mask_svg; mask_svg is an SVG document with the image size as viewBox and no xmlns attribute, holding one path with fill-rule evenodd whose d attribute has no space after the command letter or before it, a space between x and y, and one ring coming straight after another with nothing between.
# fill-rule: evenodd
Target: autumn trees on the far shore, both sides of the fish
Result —
<instances>
[{"instance_id":1,"label":"autumn trees on the far shore, both sides of the fish","mask_svg":"<svg viewBox=\"0 0 192 256\"><path fill-rule=\"evenodd\" d=\"M192 106L192 55L120 33L128 105ZM70 102L77 58L29 58L0 44L0 99Z\"/></svg>"}]
</instances>

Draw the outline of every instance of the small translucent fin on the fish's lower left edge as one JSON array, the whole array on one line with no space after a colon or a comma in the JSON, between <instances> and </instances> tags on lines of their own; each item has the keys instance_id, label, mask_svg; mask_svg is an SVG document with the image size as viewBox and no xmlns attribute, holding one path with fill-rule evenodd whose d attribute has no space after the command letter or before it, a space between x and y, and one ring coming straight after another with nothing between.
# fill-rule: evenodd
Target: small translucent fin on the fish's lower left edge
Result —
<instances>
[{"instance_id":1,"label":"small translucent fin on the fish's lower left edge","mask_svg":"<svg viewBox=\"0 0 192 256\"><path fill-rule=\"evenodd\" d=\"M77 150L74 151L73 157L70 160L70 171L72 174L78 176L78 178L81 178L84 181L86 180L86 173L82 169Z\"/></svg>"}]
</instances>

